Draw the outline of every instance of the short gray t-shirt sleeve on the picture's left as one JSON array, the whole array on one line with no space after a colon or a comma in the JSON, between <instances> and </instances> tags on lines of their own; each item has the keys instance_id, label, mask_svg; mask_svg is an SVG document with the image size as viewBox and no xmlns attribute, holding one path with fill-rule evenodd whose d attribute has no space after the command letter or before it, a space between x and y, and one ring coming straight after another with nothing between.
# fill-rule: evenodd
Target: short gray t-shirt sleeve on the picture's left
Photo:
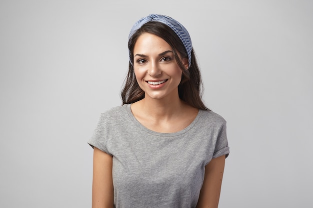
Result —
<instances>
[{"instance_id":1,"label":"short gray t-shirt sleeve on the picture's left","mask_svg":"<svg viewBox=\"0 0 313 208\"><path fill-rule=\"evenodd\" d=\"M107 139L106 139L106 128L105 122L103 121L103 114L100 115L98 123L93 131L91 138L88 140L88 144L93 148L97 149L111 155L107 150Z\"/></svg>"}]
</instances>

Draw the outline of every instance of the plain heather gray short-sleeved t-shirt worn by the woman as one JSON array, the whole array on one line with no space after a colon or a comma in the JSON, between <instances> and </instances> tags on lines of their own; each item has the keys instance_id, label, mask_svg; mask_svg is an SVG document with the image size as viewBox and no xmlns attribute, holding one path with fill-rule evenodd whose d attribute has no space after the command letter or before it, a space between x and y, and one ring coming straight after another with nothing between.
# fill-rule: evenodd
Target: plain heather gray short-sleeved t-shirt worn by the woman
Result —
<instances>
[{"instance_id":1,"label":"plain heather gray short-sleeved t-shirt worn by the woman","mask_svg":"<svg viewBox=\"0 0 313 208\"><path fill-rule=\"evenodd\" d=\"M225 120L199 110L175 133L142 126L130 104L102 113L88 141L113 156L115 208L195 208L212 158L229 154Z\"/></svg>"}]
</instances>

